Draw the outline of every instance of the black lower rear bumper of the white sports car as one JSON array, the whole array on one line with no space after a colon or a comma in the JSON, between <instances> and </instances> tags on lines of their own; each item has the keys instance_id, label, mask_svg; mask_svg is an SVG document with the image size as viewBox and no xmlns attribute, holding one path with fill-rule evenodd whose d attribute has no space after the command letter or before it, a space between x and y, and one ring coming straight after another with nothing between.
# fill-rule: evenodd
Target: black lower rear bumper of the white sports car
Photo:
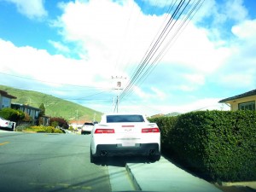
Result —
<instances>
[{"instance_id":1,"label":"black lower rear bumper of the white sports car","mask_svg":"<svg viewBox=\"0 0 256 192\"><path fill-rule=\"evenodd\" d=\"M159 155L158 143L137 143L134 147L124 147L120 144L99 144L94 156L123 156L123 155Z\"/></svg>"}]
</instances>

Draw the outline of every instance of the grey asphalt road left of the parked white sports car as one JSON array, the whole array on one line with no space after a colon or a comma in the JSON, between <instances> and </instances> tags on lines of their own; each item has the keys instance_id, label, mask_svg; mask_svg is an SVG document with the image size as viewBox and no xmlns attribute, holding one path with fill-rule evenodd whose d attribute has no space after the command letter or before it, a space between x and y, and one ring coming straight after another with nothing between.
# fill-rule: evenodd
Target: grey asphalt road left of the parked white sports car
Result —
<instances>
[{"instance_id":1,"label":"grey asphalt road left of the parked white sports car","mask_svg":"<svg viewBox=\"0 0 256 192\"><path fill-rule=\"evenodd\" d=\"M0 192L111 191L108 166L90 163L90 137L0 132Z\"/></svg>"}]
</instances>

